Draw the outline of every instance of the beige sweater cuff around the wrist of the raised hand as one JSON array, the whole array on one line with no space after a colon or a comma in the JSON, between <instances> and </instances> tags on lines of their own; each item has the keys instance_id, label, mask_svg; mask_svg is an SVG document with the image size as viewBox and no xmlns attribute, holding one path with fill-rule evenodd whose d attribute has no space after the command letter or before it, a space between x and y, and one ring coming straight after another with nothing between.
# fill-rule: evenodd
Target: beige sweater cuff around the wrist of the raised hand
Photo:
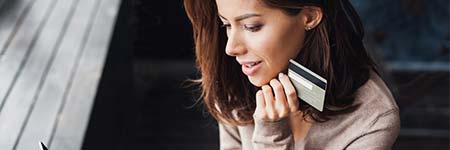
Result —
<instances>
[{"instance_id":1,"label":"beige sweater cuff around the wrist of the raised hand","mask_svg":"<svg viewBox=\"0 0 450 150\"><path fill-rule=\"evenodd\" d=\"M253 148L257 150L293 150L294 138L286 117L277 122L255 120Z\"/></svg>"}]
</instances>

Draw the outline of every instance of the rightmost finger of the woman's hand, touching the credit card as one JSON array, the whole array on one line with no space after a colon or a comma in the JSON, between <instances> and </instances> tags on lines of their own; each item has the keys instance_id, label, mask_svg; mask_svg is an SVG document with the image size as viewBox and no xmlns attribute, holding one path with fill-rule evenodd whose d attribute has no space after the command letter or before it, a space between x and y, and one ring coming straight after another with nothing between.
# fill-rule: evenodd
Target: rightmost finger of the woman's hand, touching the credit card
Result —
<instances>
[{"instance_id":1,"label":"rightmost finger of the woman's hand, touching the credit card","mask_svg":"<svg viewBox=\"0 0 450 150\"><path fill-rule=\"evenodd\" d=\"M281 85L283 85L289 110L291 112L298 111L297 92L295 91L294 85L292 85L291 80L289 80L289 77L283 73L278 74L278 79L280 80Z\"/></svg>"}]
</instances>

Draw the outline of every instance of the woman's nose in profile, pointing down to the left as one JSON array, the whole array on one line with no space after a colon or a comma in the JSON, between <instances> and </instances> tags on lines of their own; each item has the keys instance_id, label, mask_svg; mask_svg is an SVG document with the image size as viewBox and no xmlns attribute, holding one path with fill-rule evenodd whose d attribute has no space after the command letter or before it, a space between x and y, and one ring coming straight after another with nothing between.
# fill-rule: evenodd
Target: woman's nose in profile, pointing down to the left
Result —
<instances>
[{"instance_id":1,"label":"woman's nose in profile, pointing down to the left","mask_svg":"<svg viewBox=\"0 0 450 150\"><path fill-rule=\"evenodd\" d=\"M239 34L237 34L236 32L228 34L228 41L225 47L225 53L228 56L239 56L246 53L244 42L239 36Z\"/></svg>"}]
</instances>

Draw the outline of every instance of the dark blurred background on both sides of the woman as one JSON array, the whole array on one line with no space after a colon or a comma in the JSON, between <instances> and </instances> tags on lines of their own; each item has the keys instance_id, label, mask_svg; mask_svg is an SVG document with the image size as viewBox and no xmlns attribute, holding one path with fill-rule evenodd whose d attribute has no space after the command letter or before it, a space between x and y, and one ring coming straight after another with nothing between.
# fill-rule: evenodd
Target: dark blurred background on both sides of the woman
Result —
<instances>
[{"instance_id":1,"label":"dark blurred background on both sides of the woman","mask_svg":"<svg viewBox=\"0 0 450 150\"><path fill-rule=\"evenodd\" d=\"M449 149L449 1L352 0L400 107L394 149ZM123 1L83 149L218 149L182 0Z\"/></svg>"}]
</instances>

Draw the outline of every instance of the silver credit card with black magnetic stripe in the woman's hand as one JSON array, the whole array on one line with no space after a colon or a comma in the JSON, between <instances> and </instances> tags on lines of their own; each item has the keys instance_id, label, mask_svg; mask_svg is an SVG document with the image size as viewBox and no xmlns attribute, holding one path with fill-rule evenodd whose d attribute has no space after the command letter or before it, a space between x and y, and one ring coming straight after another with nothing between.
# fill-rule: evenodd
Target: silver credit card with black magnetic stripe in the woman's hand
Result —
<instances>
[{"instance_id":1,"label":"silver credit card with black magnetic stripe in the woman's hand","mask_svg":"<svg viewBox=\"0 0 450 150\"><path fill-rule=\"evenodd\" d=\"M288 76L298 98L323 111L327 80L292 59L289 60Z\"/></svg>"}]
</instances>

